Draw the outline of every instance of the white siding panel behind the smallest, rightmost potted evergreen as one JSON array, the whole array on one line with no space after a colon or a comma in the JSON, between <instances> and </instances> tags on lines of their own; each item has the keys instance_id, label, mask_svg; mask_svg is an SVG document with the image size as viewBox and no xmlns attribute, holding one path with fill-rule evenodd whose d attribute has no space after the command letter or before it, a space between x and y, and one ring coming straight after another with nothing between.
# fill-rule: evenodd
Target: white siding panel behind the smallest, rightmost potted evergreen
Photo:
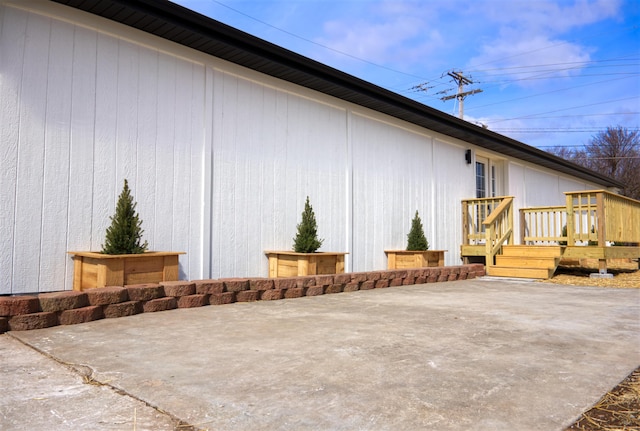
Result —
<instances>
[{"instance_id":1,"label":"white siding panel behind the smallest, rightmost potted evergreen","mask_svg":"<svg viewBox=\"0 0 640 431\"><path fill-rule=\"evenodd\" d=\"M415 211L431 219L431 138L353 114L353 269L386 268L385 249L405 249ZM425 235L433 231L425 224Z\"/></svg>"}]
</instances>

